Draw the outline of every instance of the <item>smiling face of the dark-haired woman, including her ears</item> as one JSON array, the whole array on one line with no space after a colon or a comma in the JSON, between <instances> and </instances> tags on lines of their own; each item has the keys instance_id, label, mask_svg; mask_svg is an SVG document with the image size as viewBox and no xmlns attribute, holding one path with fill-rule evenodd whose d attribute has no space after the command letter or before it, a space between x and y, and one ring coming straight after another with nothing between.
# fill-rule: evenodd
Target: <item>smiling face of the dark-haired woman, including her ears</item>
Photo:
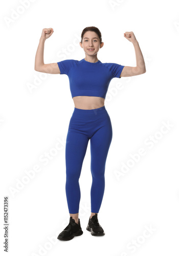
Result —
<instances>
[{"instance_id":1,"label":"smiling face of the dark-haired woman, including her ears","mask_svg":"<svg viewBox=\"0 0 179 256\"><path fill-rule=\"evenodd\" d=\"M100 44L99 36L94 31L85 32L83 35L82 44L80 42L80 46L83 48L84 52L91 56L97 54L99 49L103 47L103 44L103 42Z\"/></svg>"}]
</instances>

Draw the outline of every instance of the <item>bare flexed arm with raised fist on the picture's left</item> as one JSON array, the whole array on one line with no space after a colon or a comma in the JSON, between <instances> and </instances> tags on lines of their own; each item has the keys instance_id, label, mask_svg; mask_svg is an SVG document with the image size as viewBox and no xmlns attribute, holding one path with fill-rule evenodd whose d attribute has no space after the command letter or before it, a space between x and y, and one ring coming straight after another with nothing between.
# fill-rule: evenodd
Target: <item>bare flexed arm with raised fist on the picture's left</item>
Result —
<instances>
[{"instance_id":1,"label":"bare flexed arm with raised fist on the picture's left","mask_svg":"<svg viewBox=\"0 0 179 256\"><path fill-rule=\"evenodd\" d=\"M48 74L60 74L60 70L57 63L44 64L44 42L53 34L53 29L43 29L39 40L39 45L35 55L35 71L48 73Z\"/></svg>"}]
</instances>

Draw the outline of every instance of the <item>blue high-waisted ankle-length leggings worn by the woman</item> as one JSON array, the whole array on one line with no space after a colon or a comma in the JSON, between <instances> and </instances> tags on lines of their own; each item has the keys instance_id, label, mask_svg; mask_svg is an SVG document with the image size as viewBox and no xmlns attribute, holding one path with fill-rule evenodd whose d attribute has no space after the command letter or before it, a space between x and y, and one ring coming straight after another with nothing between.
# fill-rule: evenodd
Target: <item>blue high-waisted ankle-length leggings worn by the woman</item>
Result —
<instances>
[{"instance_id":1,"label":"blue high-waisted ankle-length leggings worn by the woman","mask_svg":"<svg viewBox=\"0 0 179 256\"><path fill-rule=\"evenodd\" d=\"M110 117L102 106L98 109L74 109L66 136L66 199L69 213L77 214L80 203L79 178L86 154L88 140L91 139L91 211L99 212L104 195L104 172L109 146L113 137Z\"/></svg>"}]
</instances>

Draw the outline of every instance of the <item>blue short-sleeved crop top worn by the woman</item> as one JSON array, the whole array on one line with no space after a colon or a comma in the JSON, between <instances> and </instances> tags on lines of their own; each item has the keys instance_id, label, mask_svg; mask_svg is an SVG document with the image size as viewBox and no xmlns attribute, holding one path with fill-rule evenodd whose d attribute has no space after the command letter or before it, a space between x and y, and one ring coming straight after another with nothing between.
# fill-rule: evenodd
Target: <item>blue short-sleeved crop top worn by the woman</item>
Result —
<instances>
[{"instance_id":1,"label":"blue short-sleeved crop top worn by the woman","mask_svg":"<svg viewBox=\"0 0 179 256\"><path fill-rule=\"evenodd\" d=\"M60 74L68 75L72 98L96 96L105 99L110 80L121 78L125 66L117 63L89 62L85 59L65 59L57 62Z\"/></svg>"}]
</instances>

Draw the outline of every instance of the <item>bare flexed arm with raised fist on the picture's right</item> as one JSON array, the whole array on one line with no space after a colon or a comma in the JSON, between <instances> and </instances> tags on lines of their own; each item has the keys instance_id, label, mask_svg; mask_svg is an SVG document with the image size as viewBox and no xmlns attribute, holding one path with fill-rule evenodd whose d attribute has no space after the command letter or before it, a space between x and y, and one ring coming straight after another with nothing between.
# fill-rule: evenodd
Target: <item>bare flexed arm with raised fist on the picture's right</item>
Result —
<instances>
[{"instance_id":1,"label":"bare flexed arm with raised fist on the picture's right","mask_svg":"<svg viewBox=\"0 0 179 256\"><path fill-rule=\"evenodd\" d=\"M124 37L127 40L129 40L130 42L132 42L132 44L135 48L136 67L125 66L121 72L120 77L137 76L137 75L144 74L146 72L145 62L144 62L144 58L143 58L141 49L139 47L139 42L137 41L133 32L125 32Z\"/></svg>"}]
</instances>

